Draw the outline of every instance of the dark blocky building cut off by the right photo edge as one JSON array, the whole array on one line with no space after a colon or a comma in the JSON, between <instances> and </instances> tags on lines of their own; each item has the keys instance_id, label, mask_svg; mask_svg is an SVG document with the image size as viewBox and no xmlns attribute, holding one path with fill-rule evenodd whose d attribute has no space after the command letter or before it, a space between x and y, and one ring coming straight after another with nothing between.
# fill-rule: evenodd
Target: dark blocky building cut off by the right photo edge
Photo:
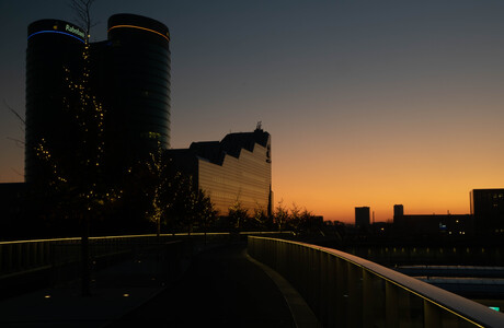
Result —
<instances>
[{"instance_id":1,"label":"dark blocky building cut off by the right photo edge","mask_svg":"<svg viewBox=\"0 0 504 328\"><path fill-rule=\"evenodd\" d=\"M471 214L478 235L504 235L504 189L470 191Z\"/></svg>"}]
</instances>

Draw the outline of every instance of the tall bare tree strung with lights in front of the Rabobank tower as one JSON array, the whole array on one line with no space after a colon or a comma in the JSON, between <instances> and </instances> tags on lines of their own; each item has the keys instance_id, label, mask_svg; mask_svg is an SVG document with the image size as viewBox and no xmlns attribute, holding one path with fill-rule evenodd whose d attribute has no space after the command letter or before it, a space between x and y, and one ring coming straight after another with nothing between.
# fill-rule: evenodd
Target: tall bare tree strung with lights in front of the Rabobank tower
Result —
<instances>
[{"instance_id":1,"label":"tall bare tree strung with lights in front of the Rabobank tower","mask_svg":"<svg viewBox=\"0 0 504 328\"><path fill-rule=\"evenodd\" d=\"M82 225L82 295L90 294L90 250L89 225L92 216L107 203L121 197L116 190L104 181L104 119L105 110L90 87L90 30L91 5L94 0L72 0L79 25L84 28L84 47L82 49L82 69L65 67L66 83L70 96L64 97L64 109L73 117L76 140L73 151L65 159L53 157L51 144L39 140L36 153L46 163L49 172L49 186L56 190L60 201L69 204L71 212Z\"/></svg>"}]
</instances>

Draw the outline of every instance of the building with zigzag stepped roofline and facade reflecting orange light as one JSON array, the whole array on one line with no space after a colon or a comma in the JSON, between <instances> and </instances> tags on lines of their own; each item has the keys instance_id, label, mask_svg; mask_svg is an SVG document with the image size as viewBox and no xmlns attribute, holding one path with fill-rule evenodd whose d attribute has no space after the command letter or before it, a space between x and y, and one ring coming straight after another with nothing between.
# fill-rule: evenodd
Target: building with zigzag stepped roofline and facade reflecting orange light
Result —
<instances>
[{"instance_id":1,"label":"building with zigzag stepped roofline and facade reflecting orange light","mask_svg":"<svg viewBox=\"0 0 504 328\"><path fill-rule=\"evenodd\" d=\"M271 137L260 127L167 153L174 166L190 174L195 186L210 197L220 215L227 215L237 202L249 214L254 209L272 213Z\"/></svg>"}]
</instances>

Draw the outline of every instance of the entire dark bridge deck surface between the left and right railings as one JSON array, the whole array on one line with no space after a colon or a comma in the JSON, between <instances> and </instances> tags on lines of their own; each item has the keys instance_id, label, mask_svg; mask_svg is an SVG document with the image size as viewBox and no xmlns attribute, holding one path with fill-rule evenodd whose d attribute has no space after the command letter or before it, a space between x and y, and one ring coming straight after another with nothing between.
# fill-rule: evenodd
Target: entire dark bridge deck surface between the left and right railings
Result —
<instances>
[{"instance_id":1,"label":"entire dark bridge deck surface between the left and right railings","mask_svg":"<svg viewBox=\"0 0 504 328\"><path fill-rule=\"evenodd\" d=\"M73 282L3 300L0 327L296 327L285 288L245 247L201 251L168 285L152 259L137 258L96 273L91 296Z\"/></svg>"}]
</instances>

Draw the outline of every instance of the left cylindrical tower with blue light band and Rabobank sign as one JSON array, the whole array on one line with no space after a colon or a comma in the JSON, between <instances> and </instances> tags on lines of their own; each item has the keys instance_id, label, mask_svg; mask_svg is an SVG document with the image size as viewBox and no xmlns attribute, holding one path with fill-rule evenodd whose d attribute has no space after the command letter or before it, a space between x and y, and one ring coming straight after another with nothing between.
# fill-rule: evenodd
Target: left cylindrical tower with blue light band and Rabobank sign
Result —
<instances>
[{"instance_id":1,"label":"left cylindrical tower with blue light band and Rabobank sign","mask_svg":"<svg viewBox=\"0 0 504 328\"><path fill-rule=\"evenodd\" d=\"M73 128L64 110L69 95L65 79L77 73L83 49L83 32L59 20L41 20L28 26L26 48L26 126L25 179L43 174L35 148L44 139L51 155L61 157L71 151ZM69 72L65 72L65 68ZM72 69L70 69L72 68Z\"/></svg>"}]
</instances>

